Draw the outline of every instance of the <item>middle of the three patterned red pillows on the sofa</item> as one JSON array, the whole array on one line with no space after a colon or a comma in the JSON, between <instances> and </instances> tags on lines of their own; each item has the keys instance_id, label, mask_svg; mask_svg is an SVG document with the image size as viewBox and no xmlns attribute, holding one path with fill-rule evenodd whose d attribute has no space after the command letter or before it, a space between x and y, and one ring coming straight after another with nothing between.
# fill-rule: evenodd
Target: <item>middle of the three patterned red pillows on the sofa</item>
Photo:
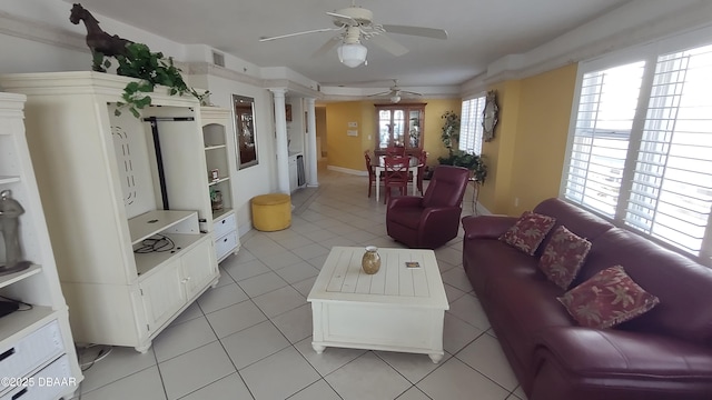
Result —
<instances>
[{"instance_id":1,"label":"middle of the three patterned red pillows on the sofa","mask_svg":"<svg viewBox=\"0 0 712 400\"><path fill-rule=\"evenodd\" d=\"M546 278L562 289L568 289L591 250L591 242L572 233L566 227L554 230L538 259L538 268Z\"/></svg>"}]
</instances>

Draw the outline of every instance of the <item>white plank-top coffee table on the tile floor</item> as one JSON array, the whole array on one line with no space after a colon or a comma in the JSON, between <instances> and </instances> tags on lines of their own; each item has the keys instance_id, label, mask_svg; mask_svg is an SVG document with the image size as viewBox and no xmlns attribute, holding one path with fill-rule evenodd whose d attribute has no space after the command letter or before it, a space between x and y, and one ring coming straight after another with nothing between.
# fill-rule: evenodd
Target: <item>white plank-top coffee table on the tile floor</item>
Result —
<instances>
[{"instance_id":1,"label":"white plank-top coffee table on the tile floor","mask_svg":"<svg viewBox=\"0 0 712 400\"><path fill-rule=\"evenodd\" d=\"M327 347L425 353L443 358L449 309L433 250L378 249L380 270L360 268L364 248L335 247L307 297L317 353ZM406 268L417 261L417 269Z\"/></svg>"}]
</instances>

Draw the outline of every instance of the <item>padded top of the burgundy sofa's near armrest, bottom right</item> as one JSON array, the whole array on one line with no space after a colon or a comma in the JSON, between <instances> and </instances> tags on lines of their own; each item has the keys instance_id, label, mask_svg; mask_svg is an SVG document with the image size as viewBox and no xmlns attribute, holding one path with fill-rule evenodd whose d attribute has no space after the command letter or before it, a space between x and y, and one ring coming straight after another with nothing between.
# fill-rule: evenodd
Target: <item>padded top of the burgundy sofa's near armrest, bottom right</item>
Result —
<instances>
[{"instance_id":1,"label":"padded top of the burgundy sofa's near armrest, bottom right","mask_svg":"<svg viewBox=\"0 0 712 400\"><path fill-rule=\"evenodd\" d=\"M555 327L538 332L534 367L553 361L581 378L712 382L712 349L647 332Z\"/></svg>"}]
</instances>

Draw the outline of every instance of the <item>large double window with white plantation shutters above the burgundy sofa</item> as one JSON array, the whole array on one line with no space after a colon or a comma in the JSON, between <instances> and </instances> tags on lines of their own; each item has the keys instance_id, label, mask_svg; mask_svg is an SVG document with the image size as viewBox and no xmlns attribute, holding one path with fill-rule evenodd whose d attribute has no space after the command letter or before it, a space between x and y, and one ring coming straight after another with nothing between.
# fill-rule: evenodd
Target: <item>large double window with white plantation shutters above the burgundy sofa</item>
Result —
<instances>
[{"instance_id":1,"label":"large double window with white plantation shutters above the burgundy sofa","mask_svg":"<svg viewBox=\"0 0 712 400\"><path fill-rule=\"evenodd\" d=\"M712 44L674 43L582 66L562 196L712 266Z\"/></svg>"}]
</instances>

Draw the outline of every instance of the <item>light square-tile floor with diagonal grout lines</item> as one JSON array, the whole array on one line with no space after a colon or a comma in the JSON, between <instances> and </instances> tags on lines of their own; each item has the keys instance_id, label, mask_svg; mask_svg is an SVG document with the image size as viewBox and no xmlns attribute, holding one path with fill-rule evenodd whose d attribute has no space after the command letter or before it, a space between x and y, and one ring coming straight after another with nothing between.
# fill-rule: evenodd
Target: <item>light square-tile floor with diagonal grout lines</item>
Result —
<instances>
[{"instance_id":1,"label":"light square-tile floor with diagonal grout lines","mask_svg":"<svg viewBox=\"0 0 712 400\"><path fill-rule=\"evenodd\" d=\"M451 303L438 364L425 354L312 349L306 297L329 248L399 247L386 234L383 200L366 197L366 177L320 170L319 183L293 196L289 229L241 237L218 287L147 353L113 348L88 368L77 399L524 400L463 272L462 229L435 251ZM472 213L469 191L463 209Z\"/></svg>"}]
</instances>

